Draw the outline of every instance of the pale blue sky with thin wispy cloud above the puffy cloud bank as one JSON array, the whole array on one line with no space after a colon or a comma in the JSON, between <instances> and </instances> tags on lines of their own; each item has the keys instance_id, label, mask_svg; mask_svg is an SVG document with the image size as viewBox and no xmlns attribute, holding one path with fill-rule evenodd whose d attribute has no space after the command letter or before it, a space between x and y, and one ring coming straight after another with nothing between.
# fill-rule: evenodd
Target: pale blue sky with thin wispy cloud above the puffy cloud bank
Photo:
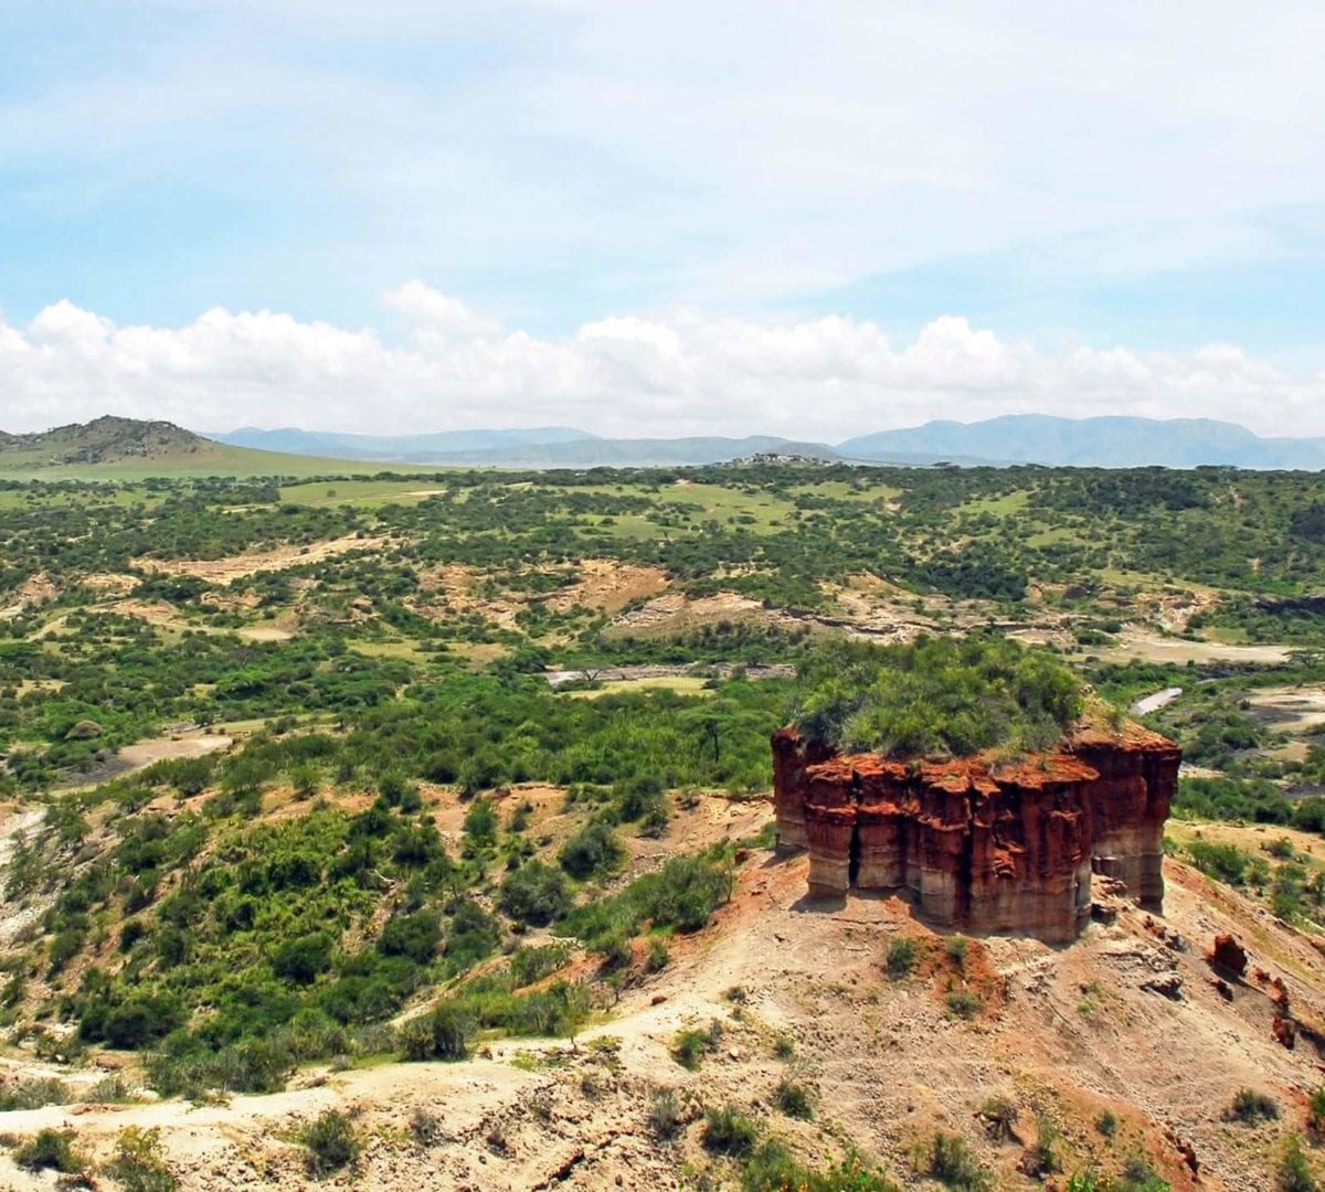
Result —
<instances>
[{"instance_id":1,"label":"pale blue sky with thin wispy cloud above the puffy cloud bank","mask_svg":"<svg viewBox=\"0 0 1325 1192\"><path fill-rule=\"evenodd\" d=\"M1314 383L1322 33L1295 3L11 0L0 311L26 363L4 376L20 420L82 409L74 380L32 379L61 301L114 328L219 307L417 347L384 295L419 281L562 348L696 311L894 346L958 317L1045 358L1232 344ZM946 413L1000 408L924 384ZM1222 392L1236 415L1244 388Z\"/></svg>"}]
</instances>

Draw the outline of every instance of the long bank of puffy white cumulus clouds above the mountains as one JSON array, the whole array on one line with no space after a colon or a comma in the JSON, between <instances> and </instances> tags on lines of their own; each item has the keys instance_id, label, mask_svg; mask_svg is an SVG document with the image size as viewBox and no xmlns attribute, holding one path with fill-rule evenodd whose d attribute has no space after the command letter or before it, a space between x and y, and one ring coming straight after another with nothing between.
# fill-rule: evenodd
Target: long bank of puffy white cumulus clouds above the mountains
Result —
<instances>
[{"instance_id":1,"label":"long bank of puffy white cumulus clouds above the mountains","mask_svg":"<svg viewBox=\"0 0 1325 1192\"><path fill-rule=\"evenodd\" d=\"M999 413L1215 417L1325 434L1325 372L1238 347L1045 354L945 315L914 342L837 315L619 315L549 339L413 281L384 295L403 334L213 309L183 327L118 326L57 302L0 319L0 428L102 413L203 430L295 425L403 433L567 424L608 436L779 433L839 441Z\"/></svg>"}]
</instances>

